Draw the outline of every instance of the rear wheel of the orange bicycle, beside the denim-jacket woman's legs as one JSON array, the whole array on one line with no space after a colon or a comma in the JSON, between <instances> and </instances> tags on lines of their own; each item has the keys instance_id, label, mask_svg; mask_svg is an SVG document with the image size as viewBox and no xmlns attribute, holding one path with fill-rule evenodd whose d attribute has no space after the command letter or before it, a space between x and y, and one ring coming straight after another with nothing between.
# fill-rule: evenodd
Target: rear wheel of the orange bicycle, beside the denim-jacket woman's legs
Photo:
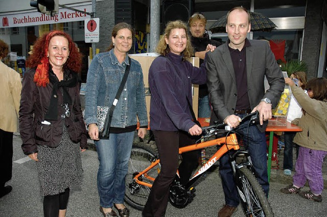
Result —
<instances>
[{"instance_id":1,"label":"rear wheel of the orange bicycle, beside the denim-jacket woman's legs","mask_svg":"<svg viewBox=\"0 0 327 217\"><path fill-rule=\"evenodd\" d=\"M143 210L150 194L150 187L139 185L133 181L133 177L138 172L145 170L150 166L151 160L156 159L157 152L154 148L145 143L133 143L131 156L128 162L128 172L125 177L125 202L131 207ZM161 170L160 164L151 169L147 175L156 178ZM147 179L145 176L141 176L143 181L150 184L152 180Z\"/></svg>"}]
</instances>

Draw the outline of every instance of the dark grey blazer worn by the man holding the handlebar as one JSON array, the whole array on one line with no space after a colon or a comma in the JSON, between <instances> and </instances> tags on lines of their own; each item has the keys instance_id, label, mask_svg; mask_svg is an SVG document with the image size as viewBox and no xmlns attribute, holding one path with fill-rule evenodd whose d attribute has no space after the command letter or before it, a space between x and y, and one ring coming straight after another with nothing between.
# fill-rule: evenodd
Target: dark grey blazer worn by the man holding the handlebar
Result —
<instances>
[{"instance_id":1,"label":"dark grey blazer worn by the man holding the handlebar","mask_svg":"<svg viewBox=\"0 0 327 217\"><path fill-rule=\"evenodd\" d=\"M269 98L275 107L285 87L281 68L265 41L250 40L246 47L247 90L251 109L263 98ZM228 49L228 41L213 52L207 52L207 86L209 100L213 106L211 123L223 121L235 111L237 84L235 72ZM265 93L264 77L270 88ZM218 118L217 118L218 117Z\"/></svg>"}]
</instances>

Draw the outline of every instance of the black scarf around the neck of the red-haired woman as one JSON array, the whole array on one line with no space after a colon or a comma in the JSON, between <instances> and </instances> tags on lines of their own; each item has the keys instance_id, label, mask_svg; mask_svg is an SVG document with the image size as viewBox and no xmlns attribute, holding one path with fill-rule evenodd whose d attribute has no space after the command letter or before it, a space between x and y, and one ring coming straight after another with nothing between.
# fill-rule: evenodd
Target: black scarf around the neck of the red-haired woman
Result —
<instances>
[{"instance_id":1,"label":"black scarf around the neck of the red-haired woman","mask_svg":"<svg viewBox=\"0 0 327 217\"><path fill-rule=\"evenodd\" d=\"M49 81L53 85L51 100L48 108L48 112L46 113L44 120L57 120L58 118L58 89L61 88L63 91L63 103L64 104L72 104L72 98L69 96L69 92L67 88L73 88L78 83L77 73L72 72L72 77L69 78L68 75L64 76L65 78L59 82L59 79L52 71L51 67L49 67Z\"/></svg>"}]
</instances>

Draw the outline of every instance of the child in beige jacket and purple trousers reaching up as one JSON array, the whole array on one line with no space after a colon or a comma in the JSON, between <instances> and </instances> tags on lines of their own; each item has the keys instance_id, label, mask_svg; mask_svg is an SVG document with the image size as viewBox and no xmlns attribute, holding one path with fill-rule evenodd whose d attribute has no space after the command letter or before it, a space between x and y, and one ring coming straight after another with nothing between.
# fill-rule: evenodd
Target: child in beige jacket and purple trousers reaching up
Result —
<instances>
[{"instance_id":1,"label":"child in beige jacket and purple trousers reaching up","mask_svg":"<svg viewBox=\"0 0 327 217\"><path fill-rule=\"evenodd\" d=\"M294 97L302 106L303 115L298 126L301 132L295 135L299 153L295 164L293 184L282 188L285 194L299 194L302 198L321 202L323 190L322 163L327 154L327 78L313 78L307 83L308 95L286 78ZM295 119L292 123L295 123ZM301 192L308 180L310 191Z\"/></svg>"}]
</instances>

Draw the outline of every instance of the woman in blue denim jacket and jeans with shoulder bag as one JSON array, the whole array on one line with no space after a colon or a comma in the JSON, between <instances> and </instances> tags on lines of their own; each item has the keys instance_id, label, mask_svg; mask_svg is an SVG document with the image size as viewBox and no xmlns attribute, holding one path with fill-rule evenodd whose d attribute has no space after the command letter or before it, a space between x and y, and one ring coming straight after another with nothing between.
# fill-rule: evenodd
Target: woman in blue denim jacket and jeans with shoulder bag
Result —
<instances>
[{"instance_id":1,"label":"woman in blue denim jacket and jeans with shoulder bag","mask_svg":"<svg viewBox=\"0 0 327 217\"><path fill-rule=\"evenodd\" d=\"M94 57L87 73L85 92L85 122L88 134L95 140L100 161L98 191L100 211L104 216L129 216L124 206L125 176L128 169L136 116L140 128L138 137L144 138L148 125L145 103L145 89L141 65L131 60L127 52L132 46L134 31L127 23L118 23L111 34L109 52ZM113 48L113 49L112 49ZM97 106L111 106L122 82L125 68L130 64L127 82L119 98L110 124L110 139L99 138L97 127Z\"/></svg>"}]
</instances>

